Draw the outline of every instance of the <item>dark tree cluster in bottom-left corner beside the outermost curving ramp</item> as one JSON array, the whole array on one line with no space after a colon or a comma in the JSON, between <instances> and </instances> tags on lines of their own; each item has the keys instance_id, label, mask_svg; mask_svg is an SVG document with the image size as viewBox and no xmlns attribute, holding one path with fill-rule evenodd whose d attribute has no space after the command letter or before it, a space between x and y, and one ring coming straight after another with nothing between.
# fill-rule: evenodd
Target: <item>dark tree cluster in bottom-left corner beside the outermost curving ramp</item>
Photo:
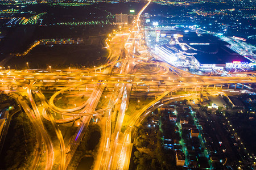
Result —
<instances>
[{"instance_id":1,"label":"dark tree cluster in bottom-left corner beside the outermost curving ramp","mask_svg":"<svg viewBox=\"0 0 256 170\"><path fill-rule=\"evenodd\" d=\"M0 169L29 169L35 145L35 130L26 113L15 114L1 152Z\"/></svg>"}]
</instances>

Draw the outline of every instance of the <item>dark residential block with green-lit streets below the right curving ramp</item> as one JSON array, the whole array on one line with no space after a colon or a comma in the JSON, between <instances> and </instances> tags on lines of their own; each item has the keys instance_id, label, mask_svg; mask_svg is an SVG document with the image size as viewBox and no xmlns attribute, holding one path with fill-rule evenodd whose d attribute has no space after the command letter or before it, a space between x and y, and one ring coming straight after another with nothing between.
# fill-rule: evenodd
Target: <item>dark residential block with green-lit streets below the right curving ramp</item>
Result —
<instances>
[{"instance_id":1,"label":"dark residential block with green-lit streets below the right curving ramp","mask_svg":"<svg viewBox=\"0 0 256 170\"><path fill-rule=\"evenodd\" d=\"M175 151L176 165L213 169L201 125L192 108L183 103L160 108L163 146Z\"/></svg>"}]
</instances>

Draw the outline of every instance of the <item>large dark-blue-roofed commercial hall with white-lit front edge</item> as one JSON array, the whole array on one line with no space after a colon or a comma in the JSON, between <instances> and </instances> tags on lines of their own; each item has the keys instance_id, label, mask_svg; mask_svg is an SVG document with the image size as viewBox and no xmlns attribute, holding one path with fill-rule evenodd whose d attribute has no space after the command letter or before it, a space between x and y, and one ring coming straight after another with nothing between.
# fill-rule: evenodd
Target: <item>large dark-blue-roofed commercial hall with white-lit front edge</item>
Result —
<instances>
[{"instance_id":1,"label":"large dark-blue-roofed commercial hall with white-lit front edge","mask_svg":"<svg viewBox=\"0 0 256 170\"><path fill-rule=\"evenodd\" d=\"M248 59L230 49L228 42L218 37L195 32L179 37L179 44L184 45L185 55L191 56L192 61L200 69L224 69L226 67L241 67L250 63ZM231 63L237 63L233 65ZM241 63L241 64L239 64Z\"/></svg>"}]
</instances>

